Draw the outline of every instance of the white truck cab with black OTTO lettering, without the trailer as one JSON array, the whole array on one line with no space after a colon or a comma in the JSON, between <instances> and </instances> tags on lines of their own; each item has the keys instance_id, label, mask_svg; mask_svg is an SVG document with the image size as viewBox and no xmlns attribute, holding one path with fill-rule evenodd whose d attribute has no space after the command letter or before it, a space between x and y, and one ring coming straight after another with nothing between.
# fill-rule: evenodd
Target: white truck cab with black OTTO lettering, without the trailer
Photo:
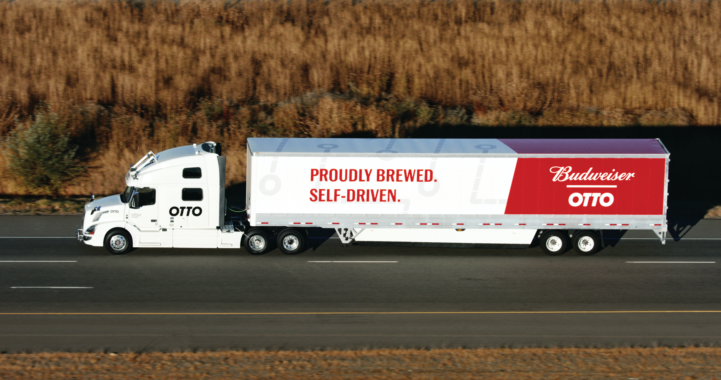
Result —
<instances>
[{"instance_id":1,"label":"white truck cab with black OTTO lettering, without the trailer","mask_svg":"<svg viewBox=\"0 0 721 380\"><path fill-rule=\"evenodd\" d=\"M123 254L136 247L238 248L226 219L221 144L208 141L154 154L125 174L125 191L84 207L76 236Z\"/></svg>"}]
</instances>

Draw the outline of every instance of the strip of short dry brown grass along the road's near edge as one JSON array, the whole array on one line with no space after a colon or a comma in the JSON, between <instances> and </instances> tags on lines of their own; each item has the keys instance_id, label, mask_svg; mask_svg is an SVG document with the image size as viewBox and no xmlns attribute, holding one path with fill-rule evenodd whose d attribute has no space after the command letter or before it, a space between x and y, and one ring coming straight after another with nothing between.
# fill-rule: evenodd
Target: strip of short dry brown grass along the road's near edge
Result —
<instances>
[{"instance_id":1,"label":"strip of short dry brown grass along the road's near edge","mask_svg":"<svg viewBox=\"0 0 721 380\"><path fill-rule=\"evenodd\" d=\"M720 348L39 353L2 379L719 379Z\"/></svg>"}]
</instances>

